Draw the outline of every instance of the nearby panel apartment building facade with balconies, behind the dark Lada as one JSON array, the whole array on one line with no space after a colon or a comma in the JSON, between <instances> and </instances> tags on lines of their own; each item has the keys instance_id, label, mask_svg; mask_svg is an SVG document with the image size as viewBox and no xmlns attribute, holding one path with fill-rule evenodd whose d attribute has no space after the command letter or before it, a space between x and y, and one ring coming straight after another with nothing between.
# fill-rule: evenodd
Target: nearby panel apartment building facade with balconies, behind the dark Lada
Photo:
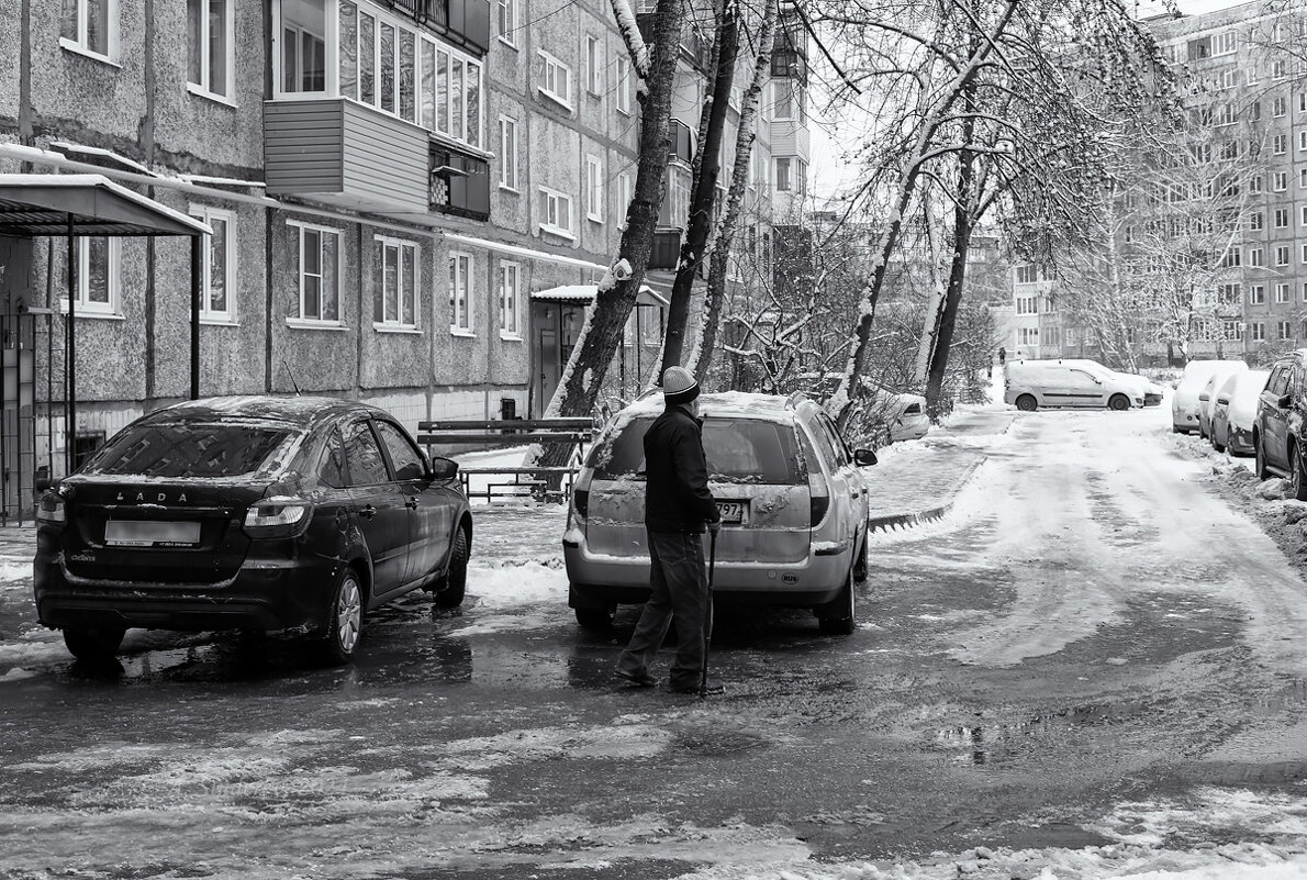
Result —
<instances>
[{"instance_id":1,"label":"nearby panel apartment building facade with balconies, behind the dark Lada","mask_svg":"<svg viewBox=\"0 0 1307 880\"><path fill-rule=\"evenodd\" d=\"M410 425L540 415L634 188L635 77L609 5L149 9L0 0L0 173L95 171L209 225L200 392L350 396ZM0 433L35 434L26 452L52 476L187 396L183 243L0 238L0 269L4 348L37 362L24 418L44 417L30 432L16 413ZM633 315L618 392L656 366L657 286Z\"/></svg>"}]
</instances>

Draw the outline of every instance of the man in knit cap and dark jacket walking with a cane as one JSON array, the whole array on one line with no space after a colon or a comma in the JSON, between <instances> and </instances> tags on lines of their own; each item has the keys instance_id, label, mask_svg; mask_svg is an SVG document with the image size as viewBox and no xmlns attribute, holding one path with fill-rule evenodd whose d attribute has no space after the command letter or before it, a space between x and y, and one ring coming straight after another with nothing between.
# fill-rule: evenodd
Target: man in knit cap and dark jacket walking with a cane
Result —
<instances>
[{"instance_id":1,"label":"man in knit cap and dark jacket walking with a cane","mask_svg":"<svg viewBox=\"0 0 1307 880\"><path fill-rule=\"evenodd\" d=\"M699 693L708 613L708 584L703 569L703 530L721 526L708 492L703 455L699 383L680 366L663 373L665 409L644 434L644 531L650 545L650 599L631 641L617 662L617 676L652 686L650 664L676 622L672 690ZM720 688L710 686L720 693Z\"/></svg>"}]
</instances>

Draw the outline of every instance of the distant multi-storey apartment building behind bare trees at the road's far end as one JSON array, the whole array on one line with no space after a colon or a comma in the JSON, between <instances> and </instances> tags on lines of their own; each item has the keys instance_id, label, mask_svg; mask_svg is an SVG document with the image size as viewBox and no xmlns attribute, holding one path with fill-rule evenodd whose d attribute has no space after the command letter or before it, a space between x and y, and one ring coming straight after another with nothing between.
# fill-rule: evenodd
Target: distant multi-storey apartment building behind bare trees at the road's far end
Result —
<instances>
[{"instance_id":1,"label":"distant multi-storey apartment building behind bare trees at the road's far end","mask_svg":"<svg viewBox=\"0 0 1307 880\"><path fill-rule=\"evenodd\" d=\"M1193 144L1200 163L1178 173L1172 190L1196 188L1184 177L1197 179L1204 165L1210 186L1191 194L1189 205L1158 194L1128 197L1124 207L1132 220L1120 230L1121 252L1149 250L1138 245L1150 226L1180 221L1191 230L1213 228L1206 241L1183 233L1174 241L1175 248L1201 243L1213 255L1210 271L1193 290L1188 356L1264 361L1302 347L1307 344L1307 65L1294 47L1307 34L1307 5L1272 9L1247 3L1159 17L1148 26L1178 76L1185 110L1206 132ZM1158 252L1140 259L1165 256L1165 235L1153 238L1158 241L1151 250ZM1014 344L1034 350L1038 332L1043 357L1095 356L1095 340L1059 310L1051 282L1044 290L1022 276L1040 271L1014 272ZM1033 297L1043 297L1038 320ZM1178 340L1168 345L1144 324L1132 330L1144 361L1179 356Z\"/></svg>"}]
</instances>

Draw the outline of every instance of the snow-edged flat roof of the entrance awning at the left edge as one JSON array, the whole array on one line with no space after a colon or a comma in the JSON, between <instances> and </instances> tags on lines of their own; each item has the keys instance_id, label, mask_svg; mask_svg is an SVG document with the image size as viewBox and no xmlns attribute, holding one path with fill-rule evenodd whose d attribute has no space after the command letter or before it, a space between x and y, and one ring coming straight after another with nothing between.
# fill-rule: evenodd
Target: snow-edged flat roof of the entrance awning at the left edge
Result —
<instances>
[{"instance_id":1,"label":"snow-edged flat roof of the entrance awning at the left edge","mask_svg":"<svg viewBox=\"0 0 1307 880\"><path fill-rule=\"evenodd\" d=\"M0 235L208 235L208 224L101 174L0 174Z\"/></svg>"}]
</instances>

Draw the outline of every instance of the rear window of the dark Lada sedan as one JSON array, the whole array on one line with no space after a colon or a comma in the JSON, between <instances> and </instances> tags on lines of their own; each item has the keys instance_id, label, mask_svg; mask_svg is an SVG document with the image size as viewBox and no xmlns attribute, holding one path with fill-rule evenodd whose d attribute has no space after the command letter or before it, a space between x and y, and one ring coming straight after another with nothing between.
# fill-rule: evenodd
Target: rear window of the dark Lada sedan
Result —
<instances>
[{"instance_id":1,"label":"rear window of the dark Lada sedan","mask_svg":"<svg viewBox=\"0 0 1307 880\"><path fill-rule=\"evenodd\" d=\"M162 422L124 429L86 473L237 477L268 469L290 430L271 425Z\"/></svg>"}]
</instances>

